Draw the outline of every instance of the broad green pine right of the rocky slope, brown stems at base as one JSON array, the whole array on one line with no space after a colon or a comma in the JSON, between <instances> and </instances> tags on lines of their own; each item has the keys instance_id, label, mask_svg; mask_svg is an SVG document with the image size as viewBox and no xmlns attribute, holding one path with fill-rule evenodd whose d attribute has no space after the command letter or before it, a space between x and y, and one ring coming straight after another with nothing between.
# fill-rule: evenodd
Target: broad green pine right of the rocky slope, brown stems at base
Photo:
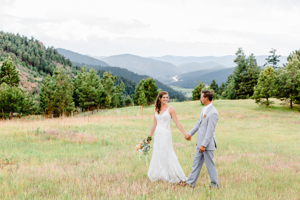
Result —
<instances>
[{"instance_id":1,"label":"broad green pine right of the rocky slope, brown stems at base","mask_svg":"<svg viewBox=\"0 0 300 200\"><path fill-rule=\"evenodd\" d=\"M46 113L58 117L75 110L73 102L73 84L61 67L57 67L53 76L47 76L41 87L41 106Z\"/></svg>"}]
</instances>

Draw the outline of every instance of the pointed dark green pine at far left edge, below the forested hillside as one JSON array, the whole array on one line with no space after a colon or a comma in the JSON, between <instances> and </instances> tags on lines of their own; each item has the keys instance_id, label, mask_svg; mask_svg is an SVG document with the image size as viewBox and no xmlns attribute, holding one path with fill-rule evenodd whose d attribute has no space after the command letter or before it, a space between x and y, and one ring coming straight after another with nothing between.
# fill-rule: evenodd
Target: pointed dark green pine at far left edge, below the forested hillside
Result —
<instances>
[{"instance_id":1,"label":"pointed dark green pine at far left edge, below the forested hillside","mask_svg":"<svg viewBox=\"0 0 300 200\"><path fill-rule=\"evenodd\" d=\"M19 86L20 78L16 66L10 56L5 59L0 69L0 84L6 83L9 86Z\"/></svg>"}]
</instances>

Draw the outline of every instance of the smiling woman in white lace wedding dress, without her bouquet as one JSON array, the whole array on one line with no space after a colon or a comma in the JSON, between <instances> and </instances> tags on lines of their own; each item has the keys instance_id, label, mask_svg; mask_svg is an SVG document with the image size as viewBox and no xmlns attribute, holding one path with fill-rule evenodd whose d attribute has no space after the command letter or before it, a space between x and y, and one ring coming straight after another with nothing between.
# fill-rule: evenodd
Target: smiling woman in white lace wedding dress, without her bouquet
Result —
<instances>
[{"instance_id":1,"label":"smiling woman in white lace wedding dress, without her bouquet","mask_svg":"<svg viewBox=\"0 0 300 200\"><path fill-rule=\"evenodd\" d=\"M187 133L177 119L176 111L168 105L169 95L166 91L161 91L155 100L155 113L150 136L155 130L152 158L149 165L148 178L150 181L168 181L179 183L187 180L184 172L177 160L173 149L171 136L171 119L175 122L179 130L187 137Z\"/></svg>"}]
</instances>

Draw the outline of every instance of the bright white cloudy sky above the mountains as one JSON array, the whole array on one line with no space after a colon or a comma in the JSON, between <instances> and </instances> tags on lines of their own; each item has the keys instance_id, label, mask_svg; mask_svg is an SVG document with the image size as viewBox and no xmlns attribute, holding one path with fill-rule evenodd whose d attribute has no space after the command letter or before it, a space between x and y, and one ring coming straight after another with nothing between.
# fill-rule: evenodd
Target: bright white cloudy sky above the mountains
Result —
<instances>
[{"instance_id":1,"label":"bright white cloudy sky above the mountains","mask_svg":"<svg viewBox=\"0 0 300 200\"><path fill-rule=\"evenodd\" d=\"M288 55L299 13L298 0L0 0L0 31L98 56Z\"/></svg>"}]
</instances>

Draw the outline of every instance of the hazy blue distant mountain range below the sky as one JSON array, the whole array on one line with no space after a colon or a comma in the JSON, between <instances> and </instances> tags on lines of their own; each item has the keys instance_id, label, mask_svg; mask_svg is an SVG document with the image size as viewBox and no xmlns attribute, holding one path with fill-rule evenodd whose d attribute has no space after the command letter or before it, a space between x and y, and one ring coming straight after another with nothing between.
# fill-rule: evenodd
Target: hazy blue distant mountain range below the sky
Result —
<instances>
[{"instance_id":1,"label":"hazy blue distant mountain range below the sky","mask_svg":"<svg viewBox=\"0 0 300 200\"><path fill-rule=\"evenodd\" d=\"M81 55L65 49L57 49L59 53L69 58L73 63L86 63L99 66L116 66L125 68L137 74L152 76L166 85L176 85L183 88L193 88L200 80L210 84L213 79L218 84L226 82L236 64L233 62L235 55L216 56L173 56L144 58L137 55L122 54L113 56ZM100 60L98 60L98 59ZM265 64L267 55L255 56L258 66ZM287 56L281 56L279 66L286 63ZM99 63L101 62L101 64ZM94 67L94 68L95 68ZM264 67L262 67L264 68ZM177 82L172 82L172 77L177 76ZM131 79L133 80L133 79Z\"/></svg>"}]
</instances>

